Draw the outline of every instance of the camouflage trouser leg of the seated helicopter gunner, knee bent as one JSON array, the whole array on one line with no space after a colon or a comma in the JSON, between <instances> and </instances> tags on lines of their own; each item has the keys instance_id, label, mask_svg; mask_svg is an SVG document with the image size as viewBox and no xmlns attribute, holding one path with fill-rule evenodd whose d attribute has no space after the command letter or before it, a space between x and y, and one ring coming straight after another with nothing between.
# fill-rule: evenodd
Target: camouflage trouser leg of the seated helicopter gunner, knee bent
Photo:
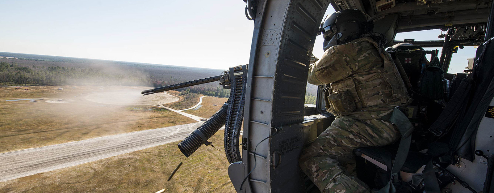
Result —
<instances>
[{"instance_id":1,"label":"camouflage trouser leg of the seated helicopter gunner, knee bent","mask_svg":"<svg viewBox=\"0 0 494 193\"><path fill-rule=\"evenodd\" d=\"M368 193L356 177L353 149L383 146L400 136L390 122L338 116L300 155L300 167L323 193Z\"/></svg>"}]
</instances>

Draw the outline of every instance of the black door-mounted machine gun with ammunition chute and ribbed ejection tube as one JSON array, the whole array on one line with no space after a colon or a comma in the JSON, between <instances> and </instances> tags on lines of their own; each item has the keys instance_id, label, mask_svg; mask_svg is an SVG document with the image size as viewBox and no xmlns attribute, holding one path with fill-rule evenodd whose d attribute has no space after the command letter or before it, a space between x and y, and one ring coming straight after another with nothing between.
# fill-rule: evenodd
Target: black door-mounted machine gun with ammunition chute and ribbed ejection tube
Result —
<instances>
[{"instance_id":1,"label":"black door-mounted machine gun with ammunition chute and ribbed ejection tube","mask_svg":"<svg viewBox=\"0 0 494 193\"><path fill-rule=\"evenodd\" d=\"M222 75L209 78L168 85L142 91L142 95L151 95L174 89L201 85L218 81L223 89L230 89L228 101L221 106L218 112L208 118L199 128L178 144L180 151L189 157L201 145L212 145L207 140L225 125L225 153L230 163L241 161L240 133L244 119L244 104L247 85L247 65L232 67Z\"/></svg>"}]
</instances>

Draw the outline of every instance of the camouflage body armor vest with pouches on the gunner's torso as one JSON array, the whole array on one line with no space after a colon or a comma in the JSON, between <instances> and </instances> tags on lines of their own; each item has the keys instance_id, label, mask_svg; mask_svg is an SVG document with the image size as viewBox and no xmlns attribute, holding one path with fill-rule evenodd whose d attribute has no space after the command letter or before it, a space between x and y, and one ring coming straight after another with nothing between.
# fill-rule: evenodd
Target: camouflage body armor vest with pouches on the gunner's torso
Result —
<instances>
[{"instance_id":1,"label":"camouflage body armor vest with pouches on the gunner's torso","mask_svg":"<svg viewBox=\"0 0 494 193\"><path fill-rule=\"evenodd\" d=\"M380 56L362 54L359 56L358 64L350 66L349 69L370 65L367 68L382 67L382 70L368 71L367 74L356 70L344 79L327 84L325 99L329 112L337 115L353 115L359 119L375 119L389 113L395 106L403 106L411 102L396 65L383 48L379 48L371 38L360 38L349 44L361 45L361 47L354 46L357 47L354 50L357 54L369 53L370 49L374 49L374 52L377 51ZM344 51L338 50L338 46L335 46L335 52ZM352 65L350 62L348 64Z\"/></svg>"}]
</instances>

